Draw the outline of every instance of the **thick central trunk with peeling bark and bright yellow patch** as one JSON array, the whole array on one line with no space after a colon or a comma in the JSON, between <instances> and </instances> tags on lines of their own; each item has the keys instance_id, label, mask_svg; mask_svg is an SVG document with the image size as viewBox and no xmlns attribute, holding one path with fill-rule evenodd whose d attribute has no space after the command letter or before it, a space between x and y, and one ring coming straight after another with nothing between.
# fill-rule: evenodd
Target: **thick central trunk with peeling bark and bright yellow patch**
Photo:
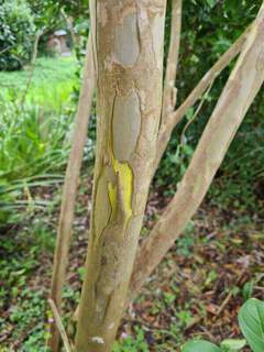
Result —
<instances>
[{"instance_id":1,"label":"thick central trunk with peeling bark and bright yellow patch","mask_svg":"<svg viewBox=\"0 0 264 352\"><path fill-rule=\"evenodd\" d=\"M91 3L98 141L77 352L110 351L123 312L156 152L165 7Z\"/></svg>"}]
</instances>

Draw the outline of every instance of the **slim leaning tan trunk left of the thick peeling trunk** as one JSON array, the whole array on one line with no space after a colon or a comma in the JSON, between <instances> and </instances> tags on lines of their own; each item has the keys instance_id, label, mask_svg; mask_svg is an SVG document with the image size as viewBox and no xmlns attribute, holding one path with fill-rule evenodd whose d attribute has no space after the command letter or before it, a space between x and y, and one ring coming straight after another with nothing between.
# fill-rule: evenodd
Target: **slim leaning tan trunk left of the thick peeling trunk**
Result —
<instances>
[{"instance_id":1,"label":"slim leaning tan trunk left of the thick peeling trunk","mask_svg":"<svg viewBox=\"0 0 264 352\"><path fill-rule=\"evenodd\" d=\"M68 251L74 220L75 200L78 189L79 173L84 155L84 147L87 140L88 121L95 90L95 68L92 63L91 37L89 37L84 72L84 82L78 102L75 130L73 134L73 144L63 189L53 264L51 298L59 312L62 305L62 290L68 263ZM58 350L58 343L59 333L54 322L51 324L51 339L48 343L53 352L56 352Z\"/></svg>"}]
</instances>

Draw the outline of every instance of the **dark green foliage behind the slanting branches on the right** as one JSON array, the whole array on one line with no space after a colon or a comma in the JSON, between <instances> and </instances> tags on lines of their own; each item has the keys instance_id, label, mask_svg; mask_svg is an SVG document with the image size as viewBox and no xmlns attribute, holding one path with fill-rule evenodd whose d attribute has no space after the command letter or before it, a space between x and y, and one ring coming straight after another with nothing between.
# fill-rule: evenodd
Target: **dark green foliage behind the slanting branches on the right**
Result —
<instances>
[{"instance_id":1,"label":"dark green foliage behind the slanting branches on the right","mask_svg":"<svg viewBox=\"0 0 264 352\"><path fill-rule=\"evenodd\" d=\"M180 59L176 86L177 106L184 101L199 79L207 73L220 55L235 41L255 18L262 1L215 1L193 0L184 2ZM169 36L169 13L167 19L167 41ZM198 140L202 133L221 89L227 81L233 63L216 80L210 91L202 98L204 105L189 125L185 135L185 124L194 117L199 105L191 108L184 121L175 129L165 157L156 175L156 185L174 193L182 178ZM210 190L212 202L224 207L244 207L261 210L264 199L264 89L246 114L240 131L222 164Z\"/></svg>"}]
</instances>

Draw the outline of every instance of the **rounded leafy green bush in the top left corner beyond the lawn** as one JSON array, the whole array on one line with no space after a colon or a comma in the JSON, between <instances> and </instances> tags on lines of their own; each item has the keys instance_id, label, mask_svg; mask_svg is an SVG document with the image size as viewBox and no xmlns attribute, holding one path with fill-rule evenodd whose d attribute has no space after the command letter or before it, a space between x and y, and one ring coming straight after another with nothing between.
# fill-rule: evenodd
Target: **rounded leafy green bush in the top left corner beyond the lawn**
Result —
<instances>
[{"instance_id":1,"label":"rounded leafy green bush in the top left corner beyond the lawn","mask_svg":"<svg viewBox=\"0 0 264 352\"><path fill-rule=\"evenodd\" d=\"M25 1L0 6L0 70L21 69L29 63L34 42L34 18Z\"/></svg>"}]
</instances>

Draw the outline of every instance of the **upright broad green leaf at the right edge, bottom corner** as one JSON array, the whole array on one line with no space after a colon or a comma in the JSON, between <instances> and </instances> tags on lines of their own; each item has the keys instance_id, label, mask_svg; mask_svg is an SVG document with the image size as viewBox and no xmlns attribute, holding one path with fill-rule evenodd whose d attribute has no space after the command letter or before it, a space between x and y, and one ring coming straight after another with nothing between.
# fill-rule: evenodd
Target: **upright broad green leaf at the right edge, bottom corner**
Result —
<instances>
[{"instance_id":1,"label":"upright broad green leaf at the right edge, bottom corner","mask_svg":"<svg viewBox=\"0 0 264 352\"><path fill-rule=\"evenodd\" d=\"M253 352L264 351L264 302L251 298L239 312L240 328Z\"/></svg>"}]
</instances>

